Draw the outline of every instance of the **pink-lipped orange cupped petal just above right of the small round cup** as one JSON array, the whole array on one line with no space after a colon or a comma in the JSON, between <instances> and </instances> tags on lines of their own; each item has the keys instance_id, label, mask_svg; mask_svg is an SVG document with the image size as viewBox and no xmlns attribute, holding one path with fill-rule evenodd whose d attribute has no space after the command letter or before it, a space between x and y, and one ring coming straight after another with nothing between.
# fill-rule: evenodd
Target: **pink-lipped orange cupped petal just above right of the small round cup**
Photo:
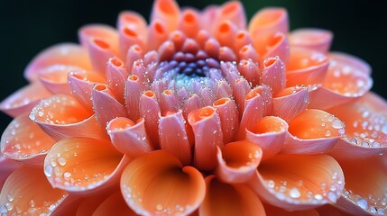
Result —
<instances>
[{"instance_id":1,"label":"pink-lipped orange cupped petal just above right of the small round cup","mask_svg":"<svg viewBox=\"0 0 387 216\"><path fill-rule=\"evenodd\" d=\"M245 139L262 148L265 160L281 151L288 128L288 123L281 118L264 116L251 130L246 130Z\"/></svg>"}]
</instances>

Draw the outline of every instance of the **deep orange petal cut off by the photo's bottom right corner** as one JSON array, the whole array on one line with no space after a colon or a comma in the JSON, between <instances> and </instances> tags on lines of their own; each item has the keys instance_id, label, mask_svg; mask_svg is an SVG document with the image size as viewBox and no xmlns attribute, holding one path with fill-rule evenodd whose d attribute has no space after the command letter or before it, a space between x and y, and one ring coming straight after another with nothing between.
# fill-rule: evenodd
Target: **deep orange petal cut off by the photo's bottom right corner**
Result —
<instances>
[{"instance_id":1,"label":"deep orange petal cut off by the photo's bottom right corner","mask_svg":"<svg viewBox=\"0 0 387 216\"><path fill-rule=\"evenodd\" d=\"M383 215L387 211L386 157L336 158L346 177L346 189L336 207L355 215Z\"/></svg>"}]
</instances>

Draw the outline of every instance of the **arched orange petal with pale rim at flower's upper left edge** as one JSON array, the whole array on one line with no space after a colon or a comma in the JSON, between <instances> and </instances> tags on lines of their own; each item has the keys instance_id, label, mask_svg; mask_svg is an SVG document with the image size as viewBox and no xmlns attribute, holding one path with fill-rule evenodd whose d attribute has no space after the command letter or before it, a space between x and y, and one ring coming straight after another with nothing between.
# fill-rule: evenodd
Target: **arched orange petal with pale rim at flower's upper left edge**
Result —
<instances>
[{"instance_id":1,"label":"arched orange petal with pale rim at flower's upper left edge","mask_svg":"<svg viewBox=\"0 0 387 216\"><path fill-rule=\"evenodd\" d=\"M39 71L53 65L64 65L68 67L81 67L90 69L88 51L78 44L60 43L42 50L25 67L24 77L29 81L37 80Z\"/></svg>"}]
</instances>

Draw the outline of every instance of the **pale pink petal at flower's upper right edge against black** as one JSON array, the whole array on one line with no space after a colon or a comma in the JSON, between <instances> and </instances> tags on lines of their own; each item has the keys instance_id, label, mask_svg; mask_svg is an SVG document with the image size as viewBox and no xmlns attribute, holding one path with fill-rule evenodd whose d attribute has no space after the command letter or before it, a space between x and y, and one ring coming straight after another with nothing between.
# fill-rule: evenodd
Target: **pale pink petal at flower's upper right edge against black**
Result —
<instances>
[{"instance_id":1,"label":"pale pink petal at flower's upper right edge against black","mask_svg":"<svg viewBox=\"0 0 387 216\"><path fill-rule=\"evenodd\" d=\"M333 33L321 29L298 29L291 31L291 47L300 47L327 53L333 39Z\"/></svg>"}]
</instances>

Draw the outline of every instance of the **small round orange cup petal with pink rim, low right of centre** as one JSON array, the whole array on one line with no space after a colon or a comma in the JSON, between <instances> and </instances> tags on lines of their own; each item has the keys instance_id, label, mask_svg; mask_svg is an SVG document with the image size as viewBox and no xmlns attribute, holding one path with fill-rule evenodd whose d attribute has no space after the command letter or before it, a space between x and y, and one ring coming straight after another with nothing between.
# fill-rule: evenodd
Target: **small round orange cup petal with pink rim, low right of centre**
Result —
<instances>
[{"instance_id":1,"label":"small round orange cup petal with pink rim, low right of centre","mask_svg":"<svg viewBox=\"0 0 387 216\"><path fill-rule=\"evenodd\" d=\"M250 141L236 141L217 148L216 174L222 182L239 184L247 182L255 173L262 158L262 149Z\"/></svg>"}]
</instances>

